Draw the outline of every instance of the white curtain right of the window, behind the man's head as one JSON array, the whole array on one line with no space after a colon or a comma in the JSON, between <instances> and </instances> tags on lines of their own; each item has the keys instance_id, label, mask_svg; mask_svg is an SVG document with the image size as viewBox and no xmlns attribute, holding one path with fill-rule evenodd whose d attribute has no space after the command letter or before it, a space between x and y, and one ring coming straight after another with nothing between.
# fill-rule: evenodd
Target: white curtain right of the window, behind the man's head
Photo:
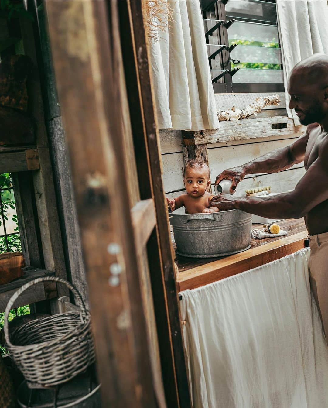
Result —
<instances>
[{"instance_id":1,"label":"white curtain right of the window, behind the man's head","mask_svg":"<svg viewBox=\"0 0 328 408\"><path fill-rule=\"evenodd\" d=\"M295 111L288 108L288 76L304 58L315 53L328 54L328 5L327 0L277 0L276 4L287 113L299 124Z\"/></svg>"}]
</instances>

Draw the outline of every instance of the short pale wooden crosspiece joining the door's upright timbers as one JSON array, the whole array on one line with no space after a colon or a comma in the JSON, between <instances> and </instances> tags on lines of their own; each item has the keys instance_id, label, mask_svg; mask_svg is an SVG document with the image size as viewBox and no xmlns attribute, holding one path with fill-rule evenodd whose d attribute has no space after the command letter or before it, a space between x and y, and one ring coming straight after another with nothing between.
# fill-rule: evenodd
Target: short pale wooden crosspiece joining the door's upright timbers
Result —
<instances>
[{"instance_id":1,"label":"short pale wooden crosspiece joining the door's upright timbers","mask_svg":"<svg viewBox=\"0 0 328 408\"><path fill-rule=\"evenodd\" d=\"M154 200L142 200L131 209L132 226L137 253L142 253L151 232L156 225L156 210Z\"/></svg>"}]
</instances>

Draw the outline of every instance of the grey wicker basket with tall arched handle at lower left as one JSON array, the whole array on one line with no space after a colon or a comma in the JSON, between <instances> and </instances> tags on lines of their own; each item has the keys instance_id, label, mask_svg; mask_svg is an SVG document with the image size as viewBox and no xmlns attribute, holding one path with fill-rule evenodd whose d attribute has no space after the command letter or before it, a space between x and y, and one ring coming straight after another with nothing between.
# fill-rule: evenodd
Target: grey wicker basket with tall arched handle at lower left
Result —
<instances>
[{"instance_id":1,"label":"grey wicker basket with tall arched handle at lower left","mask_svg":"<svg viewBox=\"0 0 328 408\"><path fill-rule=\"evenodd\" d=\"M81 310L27 322L9 336L8 316L16 299L24 290L47 281L66 285L73 292ZM95 360L89 310L78 290L57 277L35 279L13 294L4 312L4 337L10 357L24 377L39 386L50 387L69 381Z\"/></svg>"}]
</instances>

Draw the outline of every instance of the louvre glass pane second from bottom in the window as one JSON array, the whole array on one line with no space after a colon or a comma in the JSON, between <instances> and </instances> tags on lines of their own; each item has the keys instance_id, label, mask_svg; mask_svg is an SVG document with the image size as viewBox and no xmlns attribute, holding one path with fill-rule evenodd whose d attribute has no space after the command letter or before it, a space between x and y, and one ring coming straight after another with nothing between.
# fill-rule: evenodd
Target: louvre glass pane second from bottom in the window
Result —
<instances>
[{"instance_id":1,"label":"louvre glass pane second from bottom in the window","mask_svg":"<svg viewBox=\"0 0 328 408\"><path fill-rule=\"evenodd\" d=\"M231 58L240 62L263 62L265 64L281 64L280 48L254 47L238 45L230 53Z\"/></svg>"}]
</instances>

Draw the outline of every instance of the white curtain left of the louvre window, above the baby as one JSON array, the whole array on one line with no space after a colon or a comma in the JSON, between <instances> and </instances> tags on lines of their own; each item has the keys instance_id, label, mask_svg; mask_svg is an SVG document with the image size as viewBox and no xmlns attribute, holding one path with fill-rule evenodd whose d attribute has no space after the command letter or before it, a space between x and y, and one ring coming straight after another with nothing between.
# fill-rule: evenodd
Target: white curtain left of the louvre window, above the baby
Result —
<instances>
[{"instance_id":1,"label":"white curtain left of the louvre window, above the baby","mask_svg":"<svg viewBox=\"0 0 328 408\"><path fill-rule=\"evenodd\" d=\"M151 40L159 129L219 128L199 0L169 0L171 28Z\"/></svg>"}]
</instances>

